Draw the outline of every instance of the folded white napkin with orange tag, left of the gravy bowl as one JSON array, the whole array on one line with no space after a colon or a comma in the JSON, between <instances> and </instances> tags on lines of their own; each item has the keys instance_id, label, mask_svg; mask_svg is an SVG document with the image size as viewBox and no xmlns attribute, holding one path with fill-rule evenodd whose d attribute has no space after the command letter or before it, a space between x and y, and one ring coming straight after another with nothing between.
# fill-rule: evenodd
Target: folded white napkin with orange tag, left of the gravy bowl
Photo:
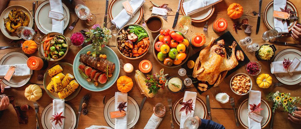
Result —
<instances>
[{"instance_id":1,"label":"folded white napkin with orange tag, left of the gravy bowl","mask_svg":"<svg viewBox=\"0 0 301 129\"><path fill-rule=\"evenodd\" d=\"M141 6L144 4L144 2L145 2L145 0L131 0L130 1L130 4L133 8L134 15L136 15L136 12L141 8ZM121 29L130 19L131 19L131 15L129 15L126 12L126 9L123 9L112 21L116 24L116 26L119 29Z\"/></svg>"}]
</instances>

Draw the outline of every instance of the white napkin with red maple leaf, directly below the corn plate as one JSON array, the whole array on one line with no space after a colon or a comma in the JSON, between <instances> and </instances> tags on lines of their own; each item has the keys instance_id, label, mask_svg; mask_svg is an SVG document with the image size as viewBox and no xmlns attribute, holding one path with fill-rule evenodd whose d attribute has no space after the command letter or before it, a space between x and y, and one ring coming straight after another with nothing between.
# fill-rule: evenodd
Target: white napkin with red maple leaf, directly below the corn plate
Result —
<instances>
[{"instance_id":1,"label":"white napkin with red maple leaf, directly below the corn plate","mask_svg":"<svg viewBox=\"0 0 301 129\"><path fill-rule=\"evenodd\" d=\"M57 113L60 114L61 112L63 112L62 116L65 116L65 100L54 99L54 100L52 100L52 103L53 103L52 115L55 115ZM68 116L65 116L65 117L68 117ZM64 119L62 119L62 123L63 123L63 125L61 127L64 128ZM52 129L54 129L54 128L52 127Z\"/></svg>"}]
</instances>

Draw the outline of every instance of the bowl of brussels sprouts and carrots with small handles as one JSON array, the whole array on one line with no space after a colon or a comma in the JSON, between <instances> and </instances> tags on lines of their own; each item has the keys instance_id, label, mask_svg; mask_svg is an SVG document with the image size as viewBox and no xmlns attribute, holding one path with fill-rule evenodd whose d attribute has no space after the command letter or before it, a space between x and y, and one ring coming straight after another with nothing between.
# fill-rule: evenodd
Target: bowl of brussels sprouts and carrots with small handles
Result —
<instances>
[{"instance_id":1,"label":"bowl of brussels sprouts and carrots with small handles","mask_svg":"<svg viewBox=\"0 0 301 129\"><path fill-rule=\"evenodd\" d=\"M43 36L39 47L39 53L49 61L58 61L65 57L71 46L69 37L61 33L50 32Z\"/></svg>"}]
</instances>

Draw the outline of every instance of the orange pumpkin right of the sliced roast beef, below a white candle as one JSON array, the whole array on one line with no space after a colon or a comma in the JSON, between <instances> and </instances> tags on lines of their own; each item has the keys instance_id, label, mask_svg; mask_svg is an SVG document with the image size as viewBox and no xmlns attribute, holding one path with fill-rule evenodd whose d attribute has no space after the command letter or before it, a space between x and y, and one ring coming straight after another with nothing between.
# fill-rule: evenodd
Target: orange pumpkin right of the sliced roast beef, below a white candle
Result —
<instances>
[{"instance_id":1,"label":"orange pumpkin right of the sliced roast beef, below a white candle","mask_svg":"<svg viewBox=\"0 0 301 129\"><path fill-rule=\"evenodd\" d=\"M126 93L132 90L133 80L128 76L120 76L117 80L117 88L119 91Z\"/></svg>"}]
</instances>

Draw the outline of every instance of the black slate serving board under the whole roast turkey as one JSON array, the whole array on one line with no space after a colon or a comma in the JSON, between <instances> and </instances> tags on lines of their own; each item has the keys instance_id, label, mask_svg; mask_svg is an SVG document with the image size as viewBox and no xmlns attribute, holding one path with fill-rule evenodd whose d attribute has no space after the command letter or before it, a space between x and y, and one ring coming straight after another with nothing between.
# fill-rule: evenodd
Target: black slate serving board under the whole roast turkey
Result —
<instances>
[{"instance_id":1,"label":"black slate serving board under the whole roast turkey","mask_svg":"<svg viewBox=\"0 0 301 129\"><path fill-rule=\"evenodd\" d=\"M232 34L231 34L229 31L225 32L222 36L220 36L219 38L217 38L217 39L215 40L215 42L216 42L216 41L219 41L219 40L222 40L222 39L225 41L225 47L231 46L232 43L233 43L233 41L236 41L236 40L234 39L234 37L232 36ZM231 48L226 48L227 56L231 56L231 54L232 54L231 50L232 50ZM236 48L235 48L235 52L236 52L237 50L241 50L241 51L244 53L244 51L240 48L240 46L238 45L238 43L237 43L237 46L236 46ZM193 60L193 61L195 61L195 60L197 59L197 57L199 57L199 54L200 54L200 51L198 51L196 54L194 54L194 55L192 55L191 57L189 57L188 60ZM249 63L249 62L250 62L249 58L248 58L247 55L244 53L244 61L239 61L239 62L238 62L238 65L237 65L234 69L231 69L231 70L228 71L226 77L227 77L228 75L230 75L231 73L235 72L235 71L236 71L237 69L239 69L240 67L242 67L242 66L244 66L245 64ZM192 77L193 69L189 69L189 68L187 67L187 62L184 63L184 64L182 65L182 68L186 69L186 73L187 73L188 77L191 78L193 82L195 82L195 83L193 83L194 87L197 89L197 91L198 91L200 94L202 94L204 91L200 91L200 90L197 88L197 84L198 84L198 83L202 83L202 82L201 82L201 81L198 81L196 78L193 78L193 77ZM206 83L206 84L208 85L207 90L209 90L209 88L212 88L212 87L213 87L213 85L209 85L208 83Z\"/></svg>"}]
</instances>

